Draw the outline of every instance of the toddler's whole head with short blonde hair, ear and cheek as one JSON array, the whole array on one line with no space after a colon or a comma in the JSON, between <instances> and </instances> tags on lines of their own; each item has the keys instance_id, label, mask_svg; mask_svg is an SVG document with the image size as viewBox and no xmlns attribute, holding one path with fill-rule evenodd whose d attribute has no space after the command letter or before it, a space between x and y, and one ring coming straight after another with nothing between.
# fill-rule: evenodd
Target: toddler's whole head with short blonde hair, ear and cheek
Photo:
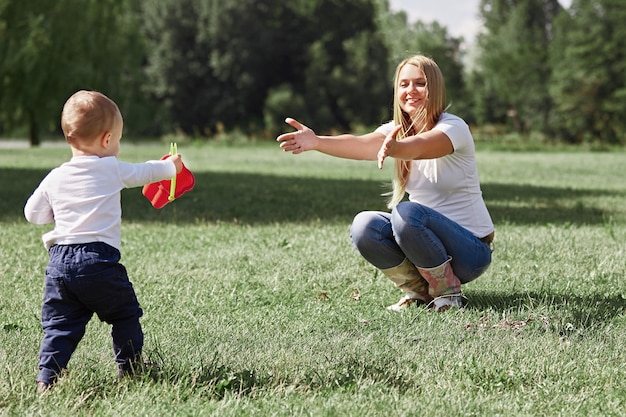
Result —
<instances>
[{"instance_id":1,"label":"toddler's whole head with short blonde hair, ear and cheek","mask_svg":"<svg viewBox=\"0 0 626 417\"><path fill-rule=\"evenodd\" d=\"M73 149L91 150L102 147L100 156L117 156L122 137L123 119L117 104L96 91L74 93L63 106L61 128Z\"/></svg>"}]
</instances>

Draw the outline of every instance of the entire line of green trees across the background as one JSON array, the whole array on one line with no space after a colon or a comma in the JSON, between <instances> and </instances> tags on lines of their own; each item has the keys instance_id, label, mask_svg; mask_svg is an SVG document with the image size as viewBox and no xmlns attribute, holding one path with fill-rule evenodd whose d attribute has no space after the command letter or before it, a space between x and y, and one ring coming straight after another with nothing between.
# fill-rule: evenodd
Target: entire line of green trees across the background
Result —
<instances>
[{"instance_id":1,"label":"entire line of green trees across the background","mask_svg":"<svg viewBox=\"0 0 626 417\"><path fill-rule=\"evenodd\" d=\"M423 53L471 124L624 142L623 0L481 0L477 13L468 50L387 0L0 0L0 135L58 134L78 89L114 99L127 136L273 137L285 116L357 130L391 117L395 66Z\"/></svg>"}]
</instances>

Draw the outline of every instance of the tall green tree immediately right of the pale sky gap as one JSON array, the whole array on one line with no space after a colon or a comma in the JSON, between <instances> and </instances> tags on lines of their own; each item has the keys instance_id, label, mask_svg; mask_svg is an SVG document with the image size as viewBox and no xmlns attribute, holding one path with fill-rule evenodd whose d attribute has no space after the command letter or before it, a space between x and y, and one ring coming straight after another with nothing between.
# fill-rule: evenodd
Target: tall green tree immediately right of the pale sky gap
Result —
<instances>
[{"instance_id":1,"label":"tall green tree immediately right of the pale sky gap","mask_svg":"<svg viewBox=\"0 0 626 417\"><path fill-rule=\"evenodd\" d=\"M480 122L506 123L519 132L545 130L552 102L548 45L557 0L482 0L485 31L472 75Z\"/></svg>"}]
</instances>

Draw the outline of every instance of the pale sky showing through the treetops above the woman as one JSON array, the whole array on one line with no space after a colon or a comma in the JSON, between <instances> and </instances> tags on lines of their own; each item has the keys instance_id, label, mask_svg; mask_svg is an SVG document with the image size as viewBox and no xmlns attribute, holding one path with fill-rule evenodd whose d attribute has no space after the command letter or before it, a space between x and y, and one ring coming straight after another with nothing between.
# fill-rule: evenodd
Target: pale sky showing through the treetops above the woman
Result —
<instances>
[{"instance_id":1,"label":"pale sky showing through the treetops above the woman","mask_svg":"<svg viewBox=\"0 0 626 417\"><path fill-rule=\"evenodd\" d=\"M559 0L566 8L571 2ZM480 0L389 0L389 8L392 11L405 11L409 22L437 21L448 28L448 34L454 37L462 36L468 43L473 43L480 31L479 4Z\"/></svg>"}]
</instances>

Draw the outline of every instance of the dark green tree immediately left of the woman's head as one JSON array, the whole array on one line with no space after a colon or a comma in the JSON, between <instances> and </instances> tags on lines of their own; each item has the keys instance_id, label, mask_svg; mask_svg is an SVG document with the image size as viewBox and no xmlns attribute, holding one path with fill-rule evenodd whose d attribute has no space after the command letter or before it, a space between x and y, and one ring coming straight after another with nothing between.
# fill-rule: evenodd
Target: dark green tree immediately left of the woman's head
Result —
<instances>
[{"instance_id":1,"label":"dark green tree immediately left of the woman's head","mask_svg":"<svg viewBox=\"0 0 626 417\"><path fill-rule=\"evenodd\" d=\"M314 7L315 37L298 75L309 123L318 130L348 131L389 118L388 52L376 13L370 0L318 0Z\"/></svg>"}]
</instances>

